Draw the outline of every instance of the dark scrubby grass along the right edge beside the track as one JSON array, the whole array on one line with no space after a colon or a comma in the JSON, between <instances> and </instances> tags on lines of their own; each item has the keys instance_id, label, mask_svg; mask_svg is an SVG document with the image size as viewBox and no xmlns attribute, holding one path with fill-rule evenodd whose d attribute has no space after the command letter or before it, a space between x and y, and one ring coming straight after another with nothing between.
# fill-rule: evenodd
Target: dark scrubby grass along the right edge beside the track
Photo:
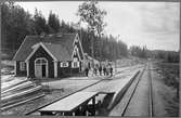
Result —
<instances>
[{"instance_id":1,"label":"dark scrubby grass along the right edge beside the track","mask_svg":"<svg viewBox=\"0 0 181 118\"><path fill-rule=\"evenodd\" d=\"M163 76L163 82L176 91L171 100L166 99L166 110L169 116L179 116L179 64L157 63L155 66Z\"/></svg>"}]
</instances>

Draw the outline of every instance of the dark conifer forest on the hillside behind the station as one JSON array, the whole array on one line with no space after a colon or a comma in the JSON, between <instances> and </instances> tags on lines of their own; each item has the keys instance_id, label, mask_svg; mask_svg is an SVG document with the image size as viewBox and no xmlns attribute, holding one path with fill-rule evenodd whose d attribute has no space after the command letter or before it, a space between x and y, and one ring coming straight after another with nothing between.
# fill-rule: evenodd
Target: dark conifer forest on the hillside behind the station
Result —
<instances>
[{"instance_id":1,"label":"dark conifer forest on the hillside behind the station","mask_svg":"<svg viewBox=\"0 0 181 118\"><path fill-rule=\"evenodd\" d=\"M128 45L121 40L117 40L117 37L98 35L99 30L98 34L92 34L89 28L77 28L78 23L63 21L63 17L59 17L52 11L46 19L41 11L37 9L33 15L14 2L3 2L1 4L1 60L12 60L26 36L77 32L80 36L85 53L92 55L93 47L93 56L99 61L114 61L121 56L133 55L142 58L160 58L170 63L179 62L179 51L151 51L146 47L138 45L128 49Z\"/></svg>"}]
</instances>

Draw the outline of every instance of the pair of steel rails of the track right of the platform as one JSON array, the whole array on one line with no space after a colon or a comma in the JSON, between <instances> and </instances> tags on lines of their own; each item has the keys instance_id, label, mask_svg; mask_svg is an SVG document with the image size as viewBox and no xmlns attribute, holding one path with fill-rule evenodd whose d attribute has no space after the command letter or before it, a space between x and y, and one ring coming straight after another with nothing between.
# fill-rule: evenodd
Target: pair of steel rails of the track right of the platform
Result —
<instances>
[{"instance_id":1,"label":"pair of steel rails of the track right of the platform","mask_svg":"<svg viewBox=\"0 0 181 118\"><path fill-rule=\"evenodd\" d=\"M151 69L150 69L150 64L146 65L146 67L142 70L142 73L139 75L138 77L138 81L133 88L133 90L131 91L131 94L129 95L129 99L127 101L127 103L125 104L125 106L121 109L121 117L126 116L126 112L128 110L128 107L130 105L131 100L133 99L133 95L135 93L135 90L138 88L138 84L140 83L143 74L145 73L145 70L148 70L148 117L153 117L154 116L154 110L153 110L153 84L152 84L152 77L151 77Z\"/></svg>"}]
</instances>

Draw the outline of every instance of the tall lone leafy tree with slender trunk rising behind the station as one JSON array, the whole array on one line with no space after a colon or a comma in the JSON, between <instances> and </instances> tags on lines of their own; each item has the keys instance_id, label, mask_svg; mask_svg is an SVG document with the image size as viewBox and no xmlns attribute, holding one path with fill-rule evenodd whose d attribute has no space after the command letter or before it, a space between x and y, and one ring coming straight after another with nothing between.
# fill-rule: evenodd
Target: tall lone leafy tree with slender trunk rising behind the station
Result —
<instances>
[{"instance_id":1,"label":"tall lone leafy tree with slender trunk rising behind the station","mask_svg":"<svg viewBox=\"0 0 181 118\"><path fill-rule=\"evenodd\" d=\"M86 1L78 8L77 15L80 22L88 24L88 31L91 34L91 55L94 57L93 39L94 36L101 37L105 23L103 22L106 12L98 6L98 1Z\"/></svg>"}]
</instances>

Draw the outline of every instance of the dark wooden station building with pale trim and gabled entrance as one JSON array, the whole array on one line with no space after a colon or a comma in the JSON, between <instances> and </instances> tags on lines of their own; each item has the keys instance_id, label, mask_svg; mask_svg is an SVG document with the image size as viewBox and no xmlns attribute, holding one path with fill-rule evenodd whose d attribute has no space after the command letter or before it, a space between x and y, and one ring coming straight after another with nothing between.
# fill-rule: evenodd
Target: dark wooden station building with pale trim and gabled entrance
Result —
<instances>
[{"instance_id":1,"label":"dark wooden station building with pale trim and gabled entrance","mask_svg":"<svg viewBox=\"0 0 181 118\"><path fill-rule=\"evenodd\" d=\"M83 70L78 34L26 36L13 57L15 76L59 78Z\"/></svg>"}]
</instances>

